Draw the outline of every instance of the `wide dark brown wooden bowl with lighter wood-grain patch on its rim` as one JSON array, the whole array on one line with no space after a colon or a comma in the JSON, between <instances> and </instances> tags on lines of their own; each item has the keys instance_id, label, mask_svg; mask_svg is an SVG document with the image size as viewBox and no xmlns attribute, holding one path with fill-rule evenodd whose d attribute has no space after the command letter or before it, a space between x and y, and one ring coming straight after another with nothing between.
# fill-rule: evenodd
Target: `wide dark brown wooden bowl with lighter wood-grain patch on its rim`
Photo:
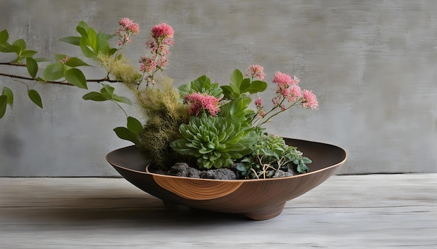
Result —
<instances>
[{"instance_id":1,"label":"wide dark brown wooden bowl with lighter wood-grain patch on its rim","mask_svg":"<svg viewBox=\"0 0 437 249\"><path fill-rule=\"evenodd\" d=\"M346 152L335 145L285 138L313 163L302 175L275 179L216 180L158 175L135 146L110 152L106 159L128 182L163 200L195 209L242 214L267 220L281 214L286 201L318 186L346 161Z\"/></svg>"}]
</instances>

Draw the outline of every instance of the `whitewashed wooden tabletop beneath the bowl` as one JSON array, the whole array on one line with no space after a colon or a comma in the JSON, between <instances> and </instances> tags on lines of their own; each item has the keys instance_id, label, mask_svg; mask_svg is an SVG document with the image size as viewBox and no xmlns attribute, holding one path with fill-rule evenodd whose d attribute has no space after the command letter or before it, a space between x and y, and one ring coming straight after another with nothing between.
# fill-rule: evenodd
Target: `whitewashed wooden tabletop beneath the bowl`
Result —
<instances>
[{"instance_id":1,"label":"whitewashed wooden tabletop beneath the bowl","mask_svg":"<svg viewBox=\"0 0 437 249\"><path fill-rule=\"evenodd\" d=\"M437 174L334 176L252 221L118 178L0 178L0 248L437 248Z\"/></svg>"}]
</instances>

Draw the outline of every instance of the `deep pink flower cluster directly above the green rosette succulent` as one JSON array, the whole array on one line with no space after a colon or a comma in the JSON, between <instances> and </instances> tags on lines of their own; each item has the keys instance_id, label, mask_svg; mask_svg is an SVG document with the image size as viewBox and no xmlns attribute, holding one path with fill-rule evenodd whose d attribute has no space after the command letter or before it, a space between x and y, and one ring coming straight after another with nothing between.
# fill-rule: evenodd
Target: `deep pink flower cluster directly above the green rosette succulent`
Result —
<instances>
[{"instance_id":1,"label":"deep pink flower cluster directly above the green rosette succulent","mask_svg":"<svg viewBox=\"0 0 437 249\"><path fill-rule=\"evenodd\" d=\"M220 111L218 108L219 99L214 96L202 94L202 93L191 93L184 96L186 103L190 105L189 113L190 115L199 115L200 111L206 110L212 116L216 116Z\"/></svg>"}]
</instances>

